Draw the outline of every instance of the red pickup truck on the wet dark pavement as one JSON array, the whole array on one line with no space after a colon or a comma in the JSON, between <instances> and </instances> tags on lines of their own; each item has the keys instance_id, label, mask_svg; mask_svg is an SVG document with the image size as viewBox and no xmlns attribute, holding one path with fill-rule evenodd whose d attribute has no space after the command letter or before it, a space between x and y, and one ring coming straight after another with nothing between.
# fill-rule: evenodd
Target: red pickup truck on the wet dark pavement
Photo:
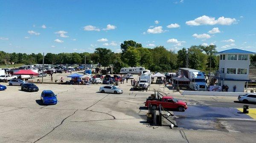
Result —
<instances>
[{"instance_id":1,"label":"red pickup truck on the wet dark pavement","mask_svg":"<svg viewBox=\"0 0 256 143\"><path fill-rule=\"evenodd\" d=\"M180 112L185 111L187 109L187 103L183 101L178 101L172 96L163 96L163 98L148 98L145 102L145 107L148 107L148 104L151 104L152 109L157 109L157 107L161 104L163 108L166 109L177 109Z\"/></svg>"}]
</instances>

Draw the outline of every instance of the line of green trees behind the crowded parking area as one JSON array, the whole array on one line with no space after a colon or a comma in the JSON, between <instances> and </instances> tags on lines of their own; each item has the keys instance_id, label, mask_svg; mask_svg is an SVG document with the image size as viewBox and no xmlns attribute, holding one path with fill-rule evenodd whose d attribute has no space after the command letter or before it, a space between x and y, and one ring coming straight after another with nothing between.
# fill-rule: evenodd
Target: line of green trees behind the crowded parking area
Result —
<instances>
[{"instance_id":1,"label":"line of green trees behind the crowded parking area","mask_svg":"<svg viewBox=\"0 0 256 143\"><path fill-rule=\"evenodd\" d=\"M209 71L210 62L212 71L218 69L218 56L215 56L216 45L202 46L192 45L190 48L183 48L177 52L167 50L163 46L155 48L143 48L140 43L133 40L124 41L120 48L121 53L114 53L107 48L96 48L93 53L47 53L44 57L45 64L98 64L102 67L113 66L115 73L119 73L122 67L142 66L148 70L157 72L170 72L178 67L188 67ZM188 59L188 60L187 60ZM251 59L256 57L252 56ZM252 62L255 62L252 61ZM41 53L6 53L0 51L0 64L42 64ZM208 73L208 72L207 72Z\"/></svg>"}]
</instances>

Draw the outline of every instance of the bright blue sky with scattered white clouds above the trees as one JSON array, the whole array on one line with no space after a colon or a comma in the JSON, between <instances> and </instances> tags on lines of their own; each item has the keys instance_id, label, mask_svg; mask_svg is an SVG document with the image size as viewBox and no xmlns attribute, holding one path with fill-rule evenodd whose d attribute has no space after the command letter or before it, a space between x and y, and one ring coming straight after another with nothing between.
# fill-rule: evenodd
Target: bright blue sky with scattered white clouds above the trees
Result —
<instances>
[{"instance_id":1,"label":"bright blue sky with scattered white clouds above the trees","mask_svg":"<svg viewBox=\"0 0 256 143\"><path fill-rule=\"evenodd\" d=\"M0 0L0 50L90 52L132 39L256 52L256 0Z\"/></svg>"}]
</instances>

